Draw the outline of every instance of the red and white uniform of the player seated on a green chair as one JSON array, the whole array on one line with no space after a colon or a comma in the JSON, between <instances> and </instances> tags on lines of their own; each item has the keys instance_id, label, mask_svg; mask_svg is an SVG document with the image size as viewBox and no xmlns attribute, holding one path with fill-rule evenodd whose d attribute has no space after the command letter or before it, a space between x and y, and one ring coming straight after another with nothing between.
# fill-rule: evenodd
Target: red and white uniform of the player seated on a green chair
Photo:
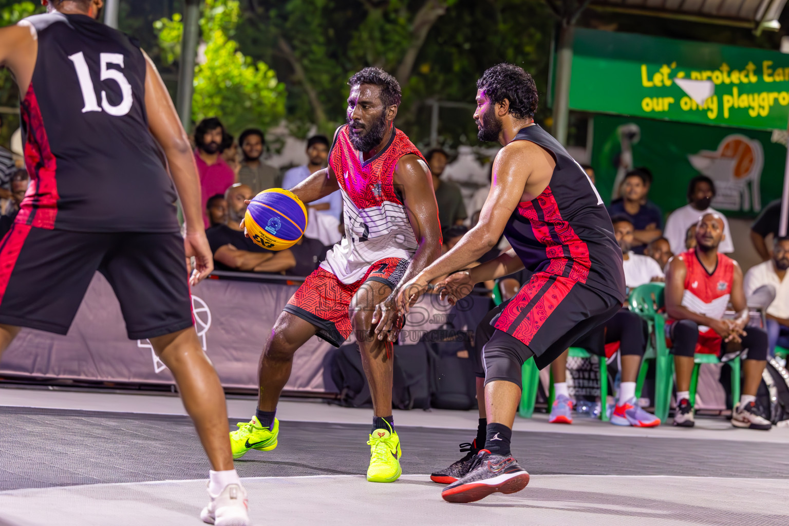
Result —
<instances>
[{"instance_id":1,"label":"red and white uniform of the player seated on a green chair","mask_svg":"<svg viewBox=\"0 0 789 526\"><path fill-rule=\"evenodd\" d=\"M731 297L731 283L734 281L734 261L718 253L718 264L712 273L708 272L698 260L695 250L683 252L679 259L685 262L685 292L682 293L682 307L712 319L723 319ZM697 353L717 353L720 349L720 335L708 326L699 326Z\"/></svg>"}]
</instances>

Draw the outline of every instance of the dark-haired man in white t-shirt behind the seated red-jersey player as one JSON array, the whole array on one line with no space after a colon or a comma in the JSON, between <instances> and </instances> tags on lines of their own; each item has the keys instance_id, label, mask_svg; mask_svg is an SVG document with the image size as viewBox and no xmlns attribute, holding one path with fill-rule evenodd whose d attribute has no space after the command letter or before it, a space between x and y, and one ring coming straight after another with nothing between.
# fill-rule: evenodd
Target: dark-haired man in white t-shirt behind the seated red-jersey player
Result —
<instances>
[{"instance_id":1,"label":"dark-haired man in white t-shirt behind the seated red-jersey player","mask_svg":"<svg viewBox=\"0 0 789 526\"><path fill-rule=\"evenodd\" d=\"M671 244L671 252L680 254L686 251L685 240L687 229L695 225L705 214L717 214L724 220L724 239L720 242L719 252L728 254L735 251L731 240L729 222L719 211L709 207L715 197L715 184L705 175L697 175L688 184L688 204L671 212L666 220L663 235Z\"/></svg>"}]
</instances>

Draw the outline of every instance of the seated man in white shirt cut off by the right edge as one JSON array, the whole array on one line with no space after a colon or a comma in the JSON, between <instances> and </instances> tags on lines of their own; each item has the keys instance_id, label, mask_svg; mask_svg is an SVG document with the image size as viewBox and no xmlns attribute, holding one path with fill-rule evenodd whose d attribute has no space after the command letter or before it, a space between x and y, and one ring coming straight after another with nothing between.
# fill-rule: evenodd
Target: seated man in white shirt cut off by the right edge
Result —
<instances>
[{"instance_id":1,"label":"seated man in white shirt cut off by the right edge","mask_svg":"<svg viewBox=\"0 0 789 526\"><path fill-rule=\"evenodd\" d=\"M767 334L770 356L775 355L776 345L789 349L789 236L776 237L772 259L759 263L745 274L745 295L750 305L760 289L769 289L772 302L766 307ZM761 291L760 291L761 292ZM761 306L761 305L760 305Z\"/></svg>"}]
</instances>

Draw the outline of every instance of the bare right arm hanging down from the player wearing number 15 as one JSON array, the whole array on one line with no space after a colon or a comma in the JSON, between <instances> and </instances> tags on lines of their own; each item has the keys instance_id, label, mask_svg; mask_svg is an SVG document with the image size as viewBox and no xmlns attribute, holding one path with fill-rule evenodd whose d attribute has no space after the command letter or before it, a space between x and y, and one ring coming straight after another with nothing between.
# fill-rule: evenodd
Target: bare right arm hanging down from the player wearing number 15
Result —
<instances>
[{"instance_id":1,"label":"bare right arm hanging down from the player wearing number 15","mask_svg":"<svg viewBox=\"0 0 789 526\"><path fill-rule=\"evenodd\" d=\"M148 112L148 128L164 151L170 165L170 175L181 199L186 225L186 256L194 256L196 261L196 273L191 279L195 284L214 270L214 259L205 237L200 205L200 177L197 175L189 138L175 111L170 93L147 54L145 62L145 109Z\"/></svg>"}]
</instances>

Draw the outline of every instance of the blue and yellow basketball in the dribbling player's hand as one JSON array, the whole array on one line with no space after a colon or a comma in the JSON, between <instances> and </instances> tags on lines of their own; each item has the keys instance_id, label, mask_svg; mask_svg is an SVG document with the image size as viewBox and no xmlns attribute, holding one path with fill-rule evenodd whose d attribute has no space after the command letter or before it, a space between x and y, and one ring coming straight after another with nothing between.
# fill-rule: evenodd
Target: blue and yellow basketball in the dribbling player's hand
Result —
<instances>
[{"instance_id":1,"label":"blue and yellow basketball in the dribbling player's hand","mask_svg":"<svg viewBox=\"0 0 789 526\"><path fill-rule=\"evenodd\" d=\"M269 188L252 198L244 225L256 244L269 250L285 250L304 235L307 207L293 192Z\"/></svg>"}]
</instances>

